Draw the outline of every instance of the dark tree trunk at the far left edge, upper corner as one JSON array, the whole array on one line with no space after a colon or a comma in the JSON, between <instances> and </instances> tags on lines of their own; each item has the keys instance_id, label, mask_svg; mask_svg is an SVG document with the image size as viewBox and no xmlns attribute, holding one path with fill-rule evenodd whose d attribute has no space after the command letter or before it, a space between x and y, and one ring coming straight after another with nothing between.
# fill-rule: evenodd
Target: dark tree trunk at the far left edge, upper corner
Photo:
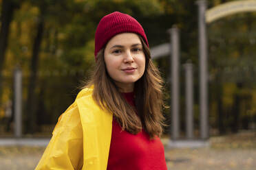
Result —
<instances>
[{"instance_id":1,"label":"dark tree trunk at the far left edge, upper corner","mask_svg":"<svg viewBox=\"0 0 256 170\"><path fill-rule=\"evenodd\" d=\"M0 30L0 105L3 82L3 63L6 59L6 49L10 32L10 23L17 3L11 0L3 0L1 4L1 30Z\"/></svg>"}]
</instances>

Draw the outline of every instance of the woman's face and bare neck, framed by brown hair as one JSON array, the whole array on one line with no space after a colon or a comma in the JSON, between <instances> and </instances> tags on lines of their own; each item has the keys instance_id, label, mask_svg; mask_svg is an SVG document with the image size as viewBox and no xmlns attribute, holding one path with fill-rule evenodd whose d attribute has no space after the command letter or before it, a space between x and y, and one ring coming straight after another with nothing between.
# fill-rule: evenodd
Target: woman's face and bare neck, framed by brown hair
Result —
<instances>
[{"instance_id":1,"label":"woman's face and bare neck, framed by brown hair","mask_svg":"<svg viewBox=\"0 0 256 170\"><path fill-rule=\"evenodd\" d=\"M132 92L134 82L142 77L145 71L145 53L137 34L117 34L104 51L107 73L122 92Z\"/></svg>"}]
</instances>

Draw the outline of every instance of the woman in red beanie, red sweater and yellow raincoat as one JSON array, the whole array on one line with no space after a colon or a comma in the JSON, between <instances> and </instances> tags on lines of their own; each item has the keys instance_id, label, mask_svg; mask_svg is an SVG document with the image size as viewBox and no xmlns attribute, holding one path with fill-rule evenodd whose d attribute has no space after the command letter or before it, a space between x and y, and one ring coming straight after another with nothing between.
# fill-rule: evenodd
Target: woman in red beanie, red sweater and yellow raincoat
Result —
<instances>
[{"instance_id":1,"label":"woman in red beanie, red sweater and yellow raincoat","mask_svg":"<svg viewBox=\"0 0 256 170\"><path fill-rule=\"evenodd\" d=\"M167 169L162 79L145 32L127 14L100 20L91 81L58 119L36 169Z\"/></svg>"}]
</instances>

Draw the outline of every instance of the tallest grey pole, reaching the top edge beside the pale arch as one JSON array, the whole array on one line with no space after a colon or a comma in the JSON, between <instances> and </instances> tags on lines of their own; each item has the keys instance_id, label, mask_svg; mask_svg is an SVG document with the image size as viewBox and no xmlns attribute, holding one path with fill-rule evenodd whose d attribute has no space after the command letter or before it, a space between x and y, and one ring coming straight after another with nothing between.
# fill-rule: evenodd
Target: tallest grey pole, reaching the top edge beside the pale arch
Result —
<instances>
[{"instance_id":1,"label":"tallest grey pole, reaching the top edge beside the pale arch","mask_svg":"<svg viewBox=\"0 0 256 170\"><path fill-rule=\"evenodd\" d=\"M205 11L206 1L198 4L198 33L199 33L199 68L200 68L200 137L209 138L208 121L208 56L206 40Z\"/></svg>"}]
</instances>

